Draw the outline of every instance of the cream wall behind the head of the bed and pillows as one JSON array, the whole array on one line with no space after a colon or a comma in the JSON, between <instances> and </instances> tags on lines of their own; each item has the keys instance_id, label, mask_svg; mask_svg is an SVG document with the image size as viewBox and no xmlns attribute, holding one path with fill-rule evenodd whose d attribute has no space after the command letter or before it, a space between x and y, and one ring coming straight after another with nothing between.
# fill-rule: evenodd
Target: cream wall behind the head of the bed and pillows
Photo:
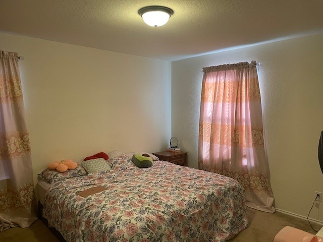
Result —
<instances>
[{"instance_id":1,"label":"cream wall behind the head of the bed and pillows","mask_svg":"<svg viewBox=\"0 0 323 242\"><path fill-rule=\"evenodd\" d=\"M18 52L34 181L47 163L158 152L171 135L171 63L0 33Z\"/></svg>"}]
</instances>

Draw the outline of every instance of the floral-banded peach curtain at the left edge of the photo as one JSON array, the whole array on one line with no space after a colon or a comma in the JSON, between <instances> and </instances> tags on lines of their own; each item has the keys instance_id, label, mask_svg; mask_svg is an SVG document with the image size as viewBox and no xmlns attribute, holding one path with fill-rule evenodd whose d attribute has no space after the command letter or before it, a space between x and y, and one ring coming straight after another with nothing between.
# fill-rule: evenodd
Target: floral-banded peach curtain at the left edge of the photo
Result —
<instances>
[{"instance_id":1,"label":"floral-banded peach curtain at the left edge of the photo","mask_svg":"<svg viewBox=\"0 0 323 242\"><path fill-rule=\"evenodd\" d=\"M0 51L0 231L36 219L18 54Z\"/></svg>"}]
</instances>

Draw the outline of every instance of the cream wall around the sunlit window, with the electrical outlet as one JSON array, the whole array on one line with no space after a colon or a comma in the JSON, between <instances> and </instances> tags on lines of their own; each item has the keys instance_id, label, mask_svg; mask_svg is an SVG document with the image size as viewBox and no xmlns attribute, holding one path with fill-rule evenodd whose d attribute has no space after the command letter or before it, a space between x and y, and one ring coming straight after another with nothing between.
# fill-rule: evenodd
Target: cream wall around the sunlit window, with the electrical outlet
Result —
<instances>
[{"instance_id":1,"label":"cream wall around the sunlit window, with the electrical outlet","mask_svg":"<svg viewBox=\"0 0 323 242\"><path fill-rule=\"evenodd\" d=\"M276 208L307 216L323 191L317 159L323 130L323 34L219 52L172 63L172 135L197 167L203 67L251 62L258 68L263 122ZM323 221L323 204L310 217Z\"/></svg>"}]
</instances>

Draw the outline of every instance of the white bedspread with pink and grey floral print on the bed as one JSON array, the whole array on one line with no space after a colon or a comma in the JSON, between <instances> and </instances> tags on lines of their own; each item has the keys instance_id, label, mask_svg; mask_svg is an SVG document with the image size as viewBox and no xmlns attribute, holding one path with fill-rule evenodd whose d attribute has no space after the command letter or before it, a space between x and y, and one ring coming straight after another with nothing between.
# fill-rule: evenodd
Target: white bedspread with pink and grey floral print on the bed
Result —
<instances>
[{"instance_id":1,"label":"white bedspread with pink and grey floral print on the bed","mask_svg":"<svg viewBox=\"0 0 323 242\"><path fill-rule=\"evenodd\" d=\"M95 186L107 190L76 194ZM237 181L166 161L58 181L45 195L43 217L67 241L216 242L248 224Z\"/></svg>"}]
</instances>

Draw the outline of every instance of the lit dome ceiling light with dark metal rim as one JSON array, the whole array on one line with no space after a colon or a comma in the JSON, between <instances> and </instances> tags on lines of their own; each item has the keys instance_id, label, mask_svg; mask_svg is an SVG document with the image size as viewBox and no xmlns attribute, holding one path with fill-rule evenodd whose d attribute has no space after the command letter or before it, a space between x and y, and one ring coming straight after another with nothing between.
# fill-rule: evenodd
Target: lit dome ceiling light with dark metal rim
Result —
<instances>
[{"instance_id":1,"label":"lit dome ceiling light with dark metal rim","mask_svg":"<svg viewBox=\"0 0 323 242\"><path fill-rule=\"evenodd\" d=\"M163 6L148 6L139 9L138 14L149 26L158 27L166 24L174 11Z\"/></svg>"}]
</instances>

